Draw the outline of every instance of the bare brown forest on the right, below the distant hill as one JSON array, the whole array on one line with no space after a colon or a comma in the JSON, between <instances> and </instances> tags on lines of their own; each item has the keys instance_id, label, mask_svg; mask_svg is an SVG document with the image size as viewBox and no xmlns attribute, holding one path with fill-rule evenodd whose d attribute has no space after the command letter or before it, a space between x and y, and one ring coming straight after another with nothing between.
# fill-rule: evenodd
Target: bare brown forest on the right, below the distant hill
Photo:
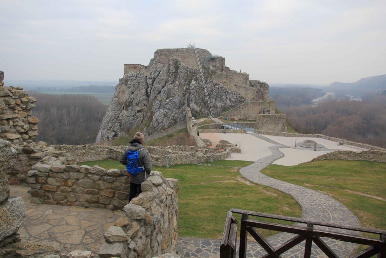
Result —
<instances>
[{"instance_id":1,"label":"bare brown forest on the right, below the distant hill","mask_svg":"<svg viewBox=\"0 0 386 258\"><path fill-rule=\"evenodd\" d=\"M329 101L281 111L299 133L322 133L386 147L386 91L364 95L362 101Z\"/></svg>"}]
</instances>

